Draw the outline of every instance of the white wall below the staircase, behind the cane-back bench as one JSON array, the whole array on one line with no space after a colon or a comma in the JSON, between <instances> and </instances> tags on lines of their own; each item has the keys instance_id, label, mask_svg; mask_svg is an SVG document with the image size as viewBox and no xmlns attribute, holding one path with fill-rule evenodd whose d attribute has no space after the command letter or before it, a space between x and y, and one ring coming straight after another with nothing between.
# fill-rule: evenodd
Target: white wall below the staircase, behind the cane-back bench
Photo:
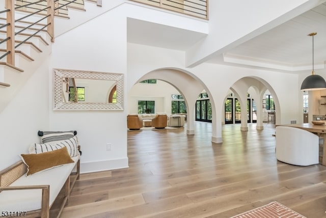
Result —
<instances>
[{"instance_id":1,"label":"white wall below the staircase, behind the cane-back bench","mask_svg":"<svg viewBox=\"0 0 326 218\"><path fill-rule=\"evenodd\" d=\"M20 160L33 143L40 143L38 130L47 130L49 59L35 71L0 113L0 171Z\"/></svg>"}]
</instances>

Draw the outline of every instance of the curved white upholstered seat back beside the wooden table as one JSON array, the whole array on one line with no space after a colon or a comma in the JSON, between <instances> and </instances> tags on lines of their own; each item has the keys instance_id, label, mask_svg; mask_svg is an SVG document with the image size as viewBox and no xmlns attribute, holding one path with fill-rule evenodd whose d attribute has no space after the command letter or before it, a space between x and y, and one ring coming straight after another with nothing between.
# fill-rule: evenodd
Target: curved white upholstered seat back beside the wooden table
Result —
<instances>
[{"instance_id":1,"label":"curved white upholstered seat back beside the wooden table","mask_svg":"<svg viewBox=\"0 0 326 218\"><path fill-rule=\"evenodd\" d=\"M297 166L319 163L319 137L289 126L276 127L276 158Z\"/></svg>"}]
</instances>

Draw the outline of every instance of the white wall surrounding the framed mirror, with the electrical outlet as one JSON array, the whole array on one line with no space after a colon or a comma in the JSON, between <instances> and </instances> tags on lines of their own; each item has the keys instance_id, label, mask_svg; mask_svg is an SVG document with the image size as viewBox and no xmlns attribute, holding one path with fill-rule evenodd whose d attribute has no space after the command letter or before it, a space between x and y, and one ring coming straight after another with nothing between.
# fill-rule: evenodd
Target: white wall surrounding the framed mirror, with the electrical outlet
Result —
<instances>
[{"instance_id":1,"label":"white wall surrounding the framed mirror, with the electrical outlet","mask_svg":"<svg viewBox=\"0 0 326 218\"><path fill-rule=\"evenodd\" d=\"M56 38L51 68L125 74L127 40L123 14L121 8L115 8ZM125 111L64 112L51 108L50 104L50 130L78 132L83 151L81 172L128 167ZM106 143L112 143L110 151L106 150Z\"/></svg>"}]
</instances>

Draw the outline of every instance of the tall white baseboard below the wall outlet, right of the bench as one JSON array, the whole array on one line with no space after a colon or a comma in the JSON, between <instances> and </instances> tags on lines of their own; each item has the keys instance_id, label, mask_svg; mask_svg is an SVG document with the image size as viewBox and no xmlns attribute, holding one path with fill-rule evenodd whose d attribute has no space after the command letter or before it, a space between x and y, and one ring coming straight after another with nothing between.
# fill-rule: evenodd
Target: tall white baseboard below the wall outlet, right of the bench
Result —
<instances>
[{"instance_id":1,"label":"tall white baseboard below the wall outlet, right of the bench","mask_svg":"<svg viewBox=\"0 0 326 218\"><path fill-rule=\"evenodd\" d=\"M80 162L80 173L94 173L106 170L128 168L128 158L102 160L94 162Z\"/></svg>"}]
</instances>

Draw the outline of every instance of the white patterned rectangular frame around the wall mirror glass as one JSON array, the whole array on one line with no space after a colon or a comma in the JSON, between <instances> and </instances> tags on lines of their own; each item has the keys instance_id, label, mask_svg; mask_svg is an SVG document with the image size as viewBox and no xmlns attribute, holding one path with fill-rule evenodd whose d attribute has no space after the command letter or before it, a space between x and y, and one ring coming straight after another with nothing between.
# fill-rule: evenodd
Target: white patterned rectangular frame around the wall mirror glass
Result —
<instances>
[{"instance_id":1,"label":"white patterned rectangular frame around the wall mirror glass","mask_svg":"<svg viewBox=\"0 0 326 218\"><path fill-rule=\"evenodd\" d=\"M117 82L117 102L64 102L62 96L63 77L115 80ZM83 70L53 69L53 111L123 111L123 74Z\"/></svg>"}]
</instances>

